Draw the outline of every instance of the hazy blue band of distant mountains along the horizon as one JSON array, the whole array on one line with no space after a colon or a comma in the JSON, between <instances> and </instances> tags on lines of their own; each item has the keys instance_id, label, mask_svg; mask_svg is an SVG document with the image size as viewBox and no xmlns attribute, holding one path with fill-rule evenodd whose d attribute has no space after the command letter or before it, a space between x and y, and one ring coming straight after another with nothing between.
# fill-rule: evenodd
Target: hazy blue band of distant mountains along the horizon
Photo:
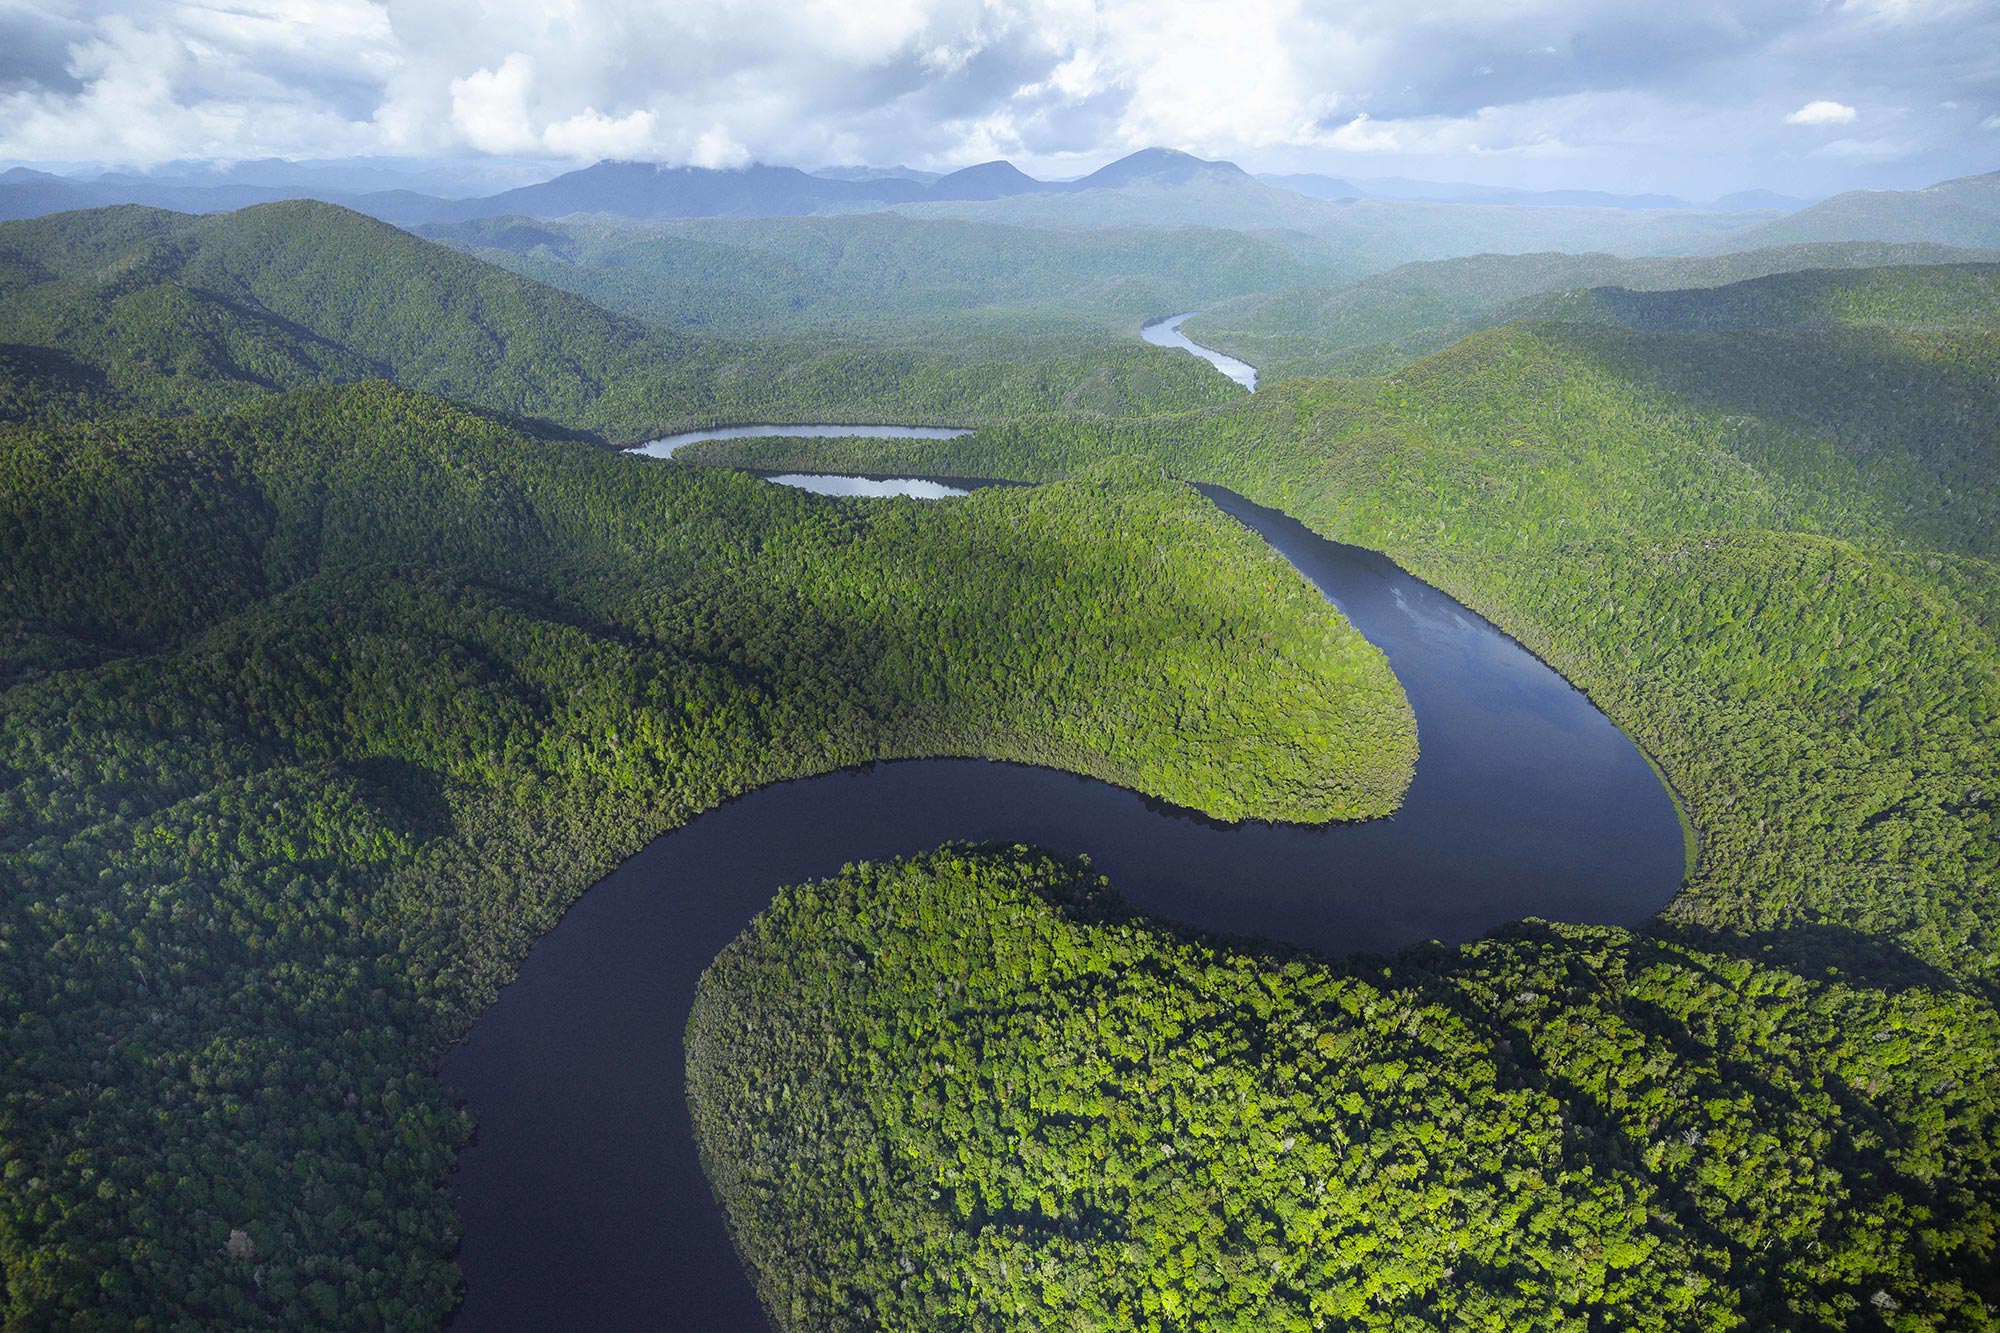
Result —
<instances>
[{"instance_id":1,"label":"hazy blue band of distant mountains along the horizon","mask_svg":"<svg viewBox=\"0 0 2000 1333\"><path fill-rule=\"evenodd\" d=\"M468 170L248 162L176 164L154 174L104 172L86 180L14 168L0 172L0 218L104 204L226 212L298 196L406 228L502 216L664 222L898 212L1054 230L1222 226L1274 238L1352 276L1474 252L1720 254L1820 240L2000 244L2000 174L1924 190L1858 190L1810 206L1764 190L1696 206L1668 194L1514 190L1390 176L1254 176L1234 162L1172 148L1146 148L1076 180L1040 180L1004 160L942 176L904 166L808 172L604 160L550 180L466 192L474 180ZM396 186L398 180L424 188Z\"/></svg>"}]
</instances>

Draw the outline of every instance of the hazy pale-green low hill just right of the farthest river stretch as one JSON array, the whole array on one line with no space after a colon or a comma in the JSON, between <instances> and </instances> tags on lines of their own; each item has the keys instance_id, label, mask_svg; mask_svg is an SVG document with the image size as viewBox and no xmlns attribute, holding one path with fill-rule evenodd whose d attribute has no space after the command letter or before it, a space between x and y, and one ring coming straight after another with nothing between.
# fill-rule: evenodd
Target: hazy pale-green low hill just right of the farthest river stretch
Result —
<instances>
[{"instance_id":1,"label":"hazy pale-green low hill just right of the farthest river stretch","mask_svg":"<svg viewBox=\"0 0 2000 1333\"><path fill-rule=\"evenodd\" d=\"M1244 296L1188 320L1190 338L1258 366L1262 382L1300 374L1382 374L1458 338L1548 312L1538 296L1596 286L1708 288L1804 268L1990 262L1990 250L1822 242L1702 258L1474 254L1404 264L1348 286Z\"/></svg>"}]
</instances>

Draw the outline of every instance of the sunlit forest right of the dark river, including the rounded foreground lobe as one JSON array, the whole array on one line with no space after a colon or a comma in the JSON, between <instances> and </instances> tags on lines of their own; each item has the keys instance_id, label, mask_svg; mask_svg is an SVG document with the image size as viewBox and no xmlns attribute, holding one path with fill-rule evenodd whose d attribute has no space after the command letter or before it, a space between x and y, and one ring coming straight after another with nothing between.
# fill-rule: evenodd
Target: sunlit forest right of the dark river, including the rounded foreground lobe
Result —
<instances>
[{"instance_id":1,"label":"sunlit forest right of the dark river, including the rounded foreground lobe","mask_svg":"<svg viewBox=\"0 0 2000 1333\"><path fill-rule=\"evenodd\" d=\"M1644 931L1388 965L1188 941L1014 851L784 895L690 1029L780 1325L2000 1325L2000 398L1990 328L1904 318L1990 274L1934 278L1852 280L1908 294L1876 326L1530 322L1130 428L704 446L1146 448L1492 616L1700 835ZM814 969L854 949L882 971Z\"/></svg>"}]
</instances>

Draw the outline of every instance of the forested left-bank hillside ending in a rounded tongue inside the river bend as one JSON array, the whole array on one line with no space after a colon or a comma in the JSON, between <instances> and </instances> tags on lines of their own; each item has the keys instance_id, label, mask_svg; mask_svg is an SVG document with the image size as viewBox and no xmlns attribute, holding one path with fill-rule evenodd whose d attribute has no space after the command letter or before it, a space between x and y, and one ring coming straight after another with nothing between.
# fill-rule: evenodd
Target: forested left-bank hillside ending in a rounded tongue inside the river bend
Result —
<instances>
[{"instance_id":1,"label":"forested left-bank hillside ending in a rounded tongue inside the river bend","mask_svg":"<svg viewBox=\"0 0 2000 1333\"><path fill-rule=\"evenodd\" d=\"M730 795L990 755L1316 821L1414 761L1156 468L854 504L360 384L0 430L0 562L10 1327L434 1323L436 1053Z\"/></svg>"}]
</instances>

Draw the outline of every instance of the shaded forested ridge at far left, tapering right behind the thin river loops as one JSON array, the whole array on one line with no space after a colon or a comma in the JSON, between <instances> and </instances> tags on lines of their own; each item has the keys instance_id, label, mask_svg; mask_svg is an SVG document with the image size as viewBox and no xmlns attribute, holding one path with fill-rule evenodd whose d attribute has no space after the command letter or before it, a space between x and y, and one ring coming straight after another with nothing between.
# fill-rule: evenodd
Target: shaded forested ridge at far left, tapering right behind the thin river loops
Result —
<instances>
[{"instance_id":1,"label":"shaded forested ridge at far left, tapering right behind the thin river loops","mask_svg":"<svg viewBox=\"0 0 2000 1333\"><path fill-rule=\"evenodd\" d=\"M676 336L332 204L0 224L0 420L392 378L610 442L718 420L1130 412L1230 390L1142 344Z\"/></svg>"}]
</instances>

